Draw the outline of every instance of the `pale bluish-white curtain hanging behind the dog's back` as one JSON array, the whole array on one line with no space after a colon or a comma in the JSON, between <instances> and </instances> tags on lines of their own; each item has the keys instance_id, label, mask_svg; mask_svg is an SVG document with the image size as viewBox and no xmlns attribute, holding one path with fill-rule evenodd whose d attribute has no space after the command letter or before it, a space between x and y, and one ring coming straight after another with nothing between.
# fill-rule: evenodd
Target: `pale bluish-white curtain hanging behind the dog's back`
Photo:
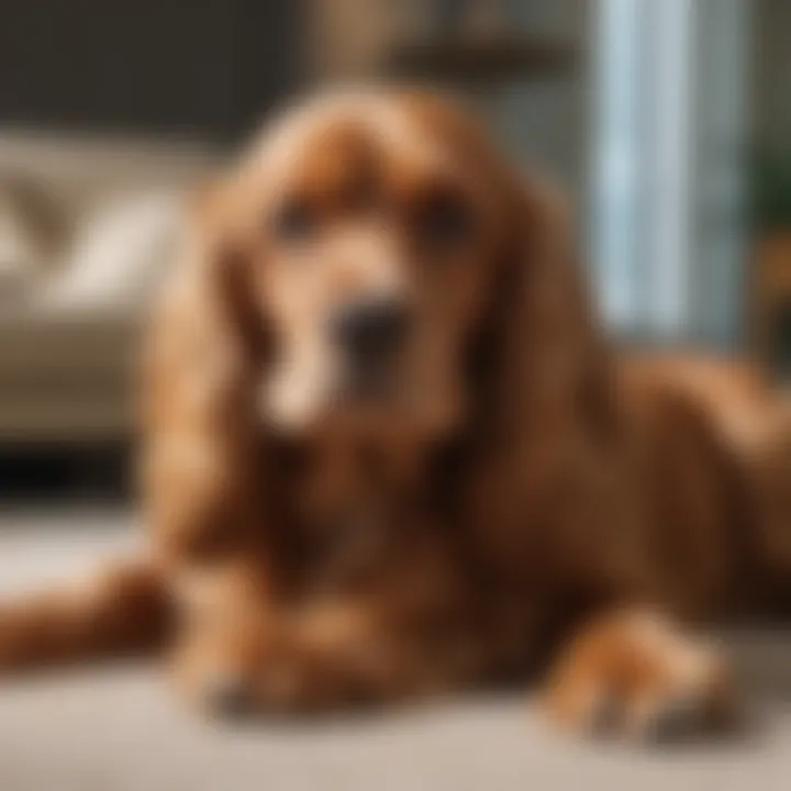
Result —
<instances>
[{"instance_id":1,"label":"pale bluish-white curtain hanging behind the dog's back","mask_svg":"<svg viewBox=\"0 0 791 791\"><path fill-rule=\"evenodd\" d=\"M749 0L598 0L591 243L621 332L728 345L745 260Z\"/></svg>"}]
</instances>

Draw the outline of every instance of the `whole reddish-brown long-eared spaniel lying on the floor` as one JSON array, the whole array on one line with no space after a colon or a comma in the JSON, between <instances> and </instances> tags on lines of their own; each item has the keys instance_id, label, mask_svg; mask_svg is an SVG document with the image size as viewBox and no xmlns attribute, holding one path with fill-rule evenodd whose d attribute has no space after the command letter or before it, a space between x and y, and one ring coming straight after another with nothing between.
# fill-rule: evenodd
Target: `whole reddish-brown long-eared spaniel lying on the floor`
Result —
<instances>
[{"instance_id":1,"label":"whole reddish-brown long-eared spaniel lying on the floor","mask_svg":"<svg viewBox=\"0 0 791 791\"><path fill-rule=\"evenodd\" d=\"M553 202L425 97L291 113L196 213L147 359L152 558L10 608L2 664L169 635L200 701L314 710L556 653L572 727L722 708L673 619L791 593L791 422L754 371L616 359Z\"/></svg>"}]
</instances>

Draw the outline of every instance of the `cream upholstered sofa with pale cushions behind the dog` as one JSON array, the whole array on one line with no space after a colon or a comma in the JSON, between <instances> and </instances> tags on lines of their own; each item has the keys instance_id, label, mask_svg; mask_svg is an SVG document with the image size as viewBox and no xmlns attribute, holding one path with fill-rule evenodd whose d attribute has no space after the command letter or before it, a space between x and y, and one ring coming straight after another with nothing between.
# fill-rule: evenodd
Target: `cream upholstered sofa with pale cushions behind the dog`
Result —
<instances>
[{"instance_id":1,"label":"cream upholstered sofa with pale cushions behind the dog","mask_svg":"<svg viewBox=\"0 0 791 791\"><path fill-rule=\"evenodd\" d=\"M141 324L215 158L193 141L0 132L0 445L130 433Z\"/></svg>"}]
</instances>

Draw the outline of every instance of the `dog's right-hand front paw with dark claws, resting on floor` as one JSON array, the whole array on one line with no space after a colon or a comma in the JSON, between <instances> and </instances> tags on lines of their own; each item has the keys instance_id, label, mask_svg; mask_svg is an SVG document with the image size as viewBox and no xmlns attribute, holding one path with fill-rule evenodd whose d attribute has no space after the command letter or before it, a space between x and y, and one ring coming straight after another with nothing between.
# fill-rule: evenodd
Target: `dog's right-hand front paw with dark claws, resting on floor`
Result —
<instances>
[{"instance_id":1,"label":"dog's right-hand front paw with dark claws, resting on floor","mask_svg":"<svg viewBox=\"0 0 791 791\"><path fill-rule=\"evenodd\" d=\"M647 611L622 611L577 634L553 669L544 704L566 731L679 742L734 723L722 658Z\"/></svg>"}]
</instances>

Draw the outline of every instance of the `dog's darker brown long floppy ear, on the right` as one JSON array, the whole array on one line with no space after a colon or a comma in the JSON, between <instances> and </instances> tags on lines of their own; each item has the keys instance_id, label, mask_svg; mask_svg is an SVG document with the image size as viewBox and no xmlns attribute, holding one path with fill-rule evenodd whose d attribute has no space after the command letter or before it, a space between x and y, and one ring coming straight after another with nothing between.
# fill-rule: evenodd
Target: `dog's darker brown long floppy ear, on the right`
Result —
<instances>
[{"instance_id":1,"label":"dog's darker brown long floppy ear, on the right","mask_svg":"<svg viewBox=\"0 0 791 791\"><path fill-rule=\"evenodd\" d=\"M619 411L561 205L532 183L514 186L509 204L500 279L477 349L466 512L487 548L524 568L520 546L537 552L539 533L575 531L590 515L598 470L617 445Z\"/></svg>"}]
</instances>

